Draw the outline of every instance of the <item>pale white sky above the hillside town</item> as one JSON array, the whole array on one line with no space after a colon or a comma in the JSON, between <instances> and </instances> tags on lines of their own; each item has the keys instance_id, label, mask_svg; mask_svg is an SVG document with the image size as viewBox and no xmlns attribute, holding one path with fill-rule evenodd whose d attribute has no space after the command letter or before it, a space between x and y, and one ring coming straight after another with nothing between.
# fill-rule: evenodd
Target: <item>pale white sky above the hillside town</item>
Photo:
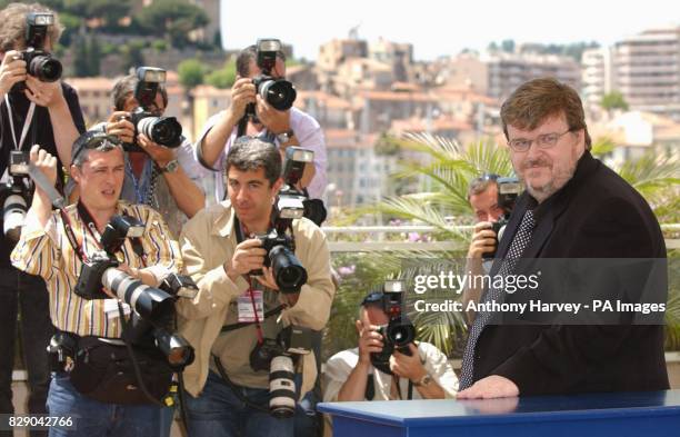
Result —
<instances>
[{"instance_id":1,"label":"pale white sky above the hillside town","mask_svg":"<svg viewBox=\"0 0 680 437\"><path fill-rule=\"evenodd\" d=\"M489 42L611 44L660 26L680 26L676 0L221 0L226 49L242 49L258 38L279 38L296 58L314 60L319 46L347 38L359 26L369 42L382 37L411 42L416 60L483 50Z\"/></svg>"}]
</instances>

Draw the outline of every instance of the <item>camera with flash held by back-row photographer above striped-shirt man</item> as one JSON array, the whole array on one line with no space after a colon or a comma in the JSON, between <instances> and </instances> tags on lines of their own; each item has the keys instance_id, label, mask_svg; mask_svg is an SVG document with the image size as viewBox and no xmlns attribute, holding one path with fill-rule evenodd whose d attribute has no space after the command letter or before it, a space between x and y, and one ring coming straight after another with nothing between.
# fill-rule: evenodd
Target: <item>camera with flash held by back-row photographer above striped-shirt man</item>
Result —
<instances>
[{"instance_id":1,"label":"camera with flash held by back-row photographer above striped-shirt man","mask_svg":"<svg viewBox=\"0 0 680 437\"><path fill-rule=\"evenodd\" d=\"M180 147L182 137L182 126L174 117L159 117L153 111L156 95L161 85L166 83L166 70L154 67L140 67L137 69L137 86L134 87L134 99L139 107L130 113L130 121L134 125L134 138L139 133L146 135L151 141L168 147ZM132 143L124 143L127 151L143 151L137 140Z\"/></svg>"}]
</instances>

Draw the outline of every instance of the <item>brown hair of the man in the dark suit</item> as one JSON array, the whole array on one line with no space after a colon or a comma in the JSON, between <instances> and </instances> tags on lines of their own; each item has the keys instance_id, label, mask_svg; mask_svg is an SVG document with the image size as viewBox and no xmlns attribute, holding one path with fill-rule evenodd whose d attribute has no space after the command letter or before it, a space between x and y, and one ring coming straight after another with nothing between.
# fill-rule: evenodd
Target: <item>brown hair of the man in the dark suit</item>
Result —
<instances>
[{"instance_id":1,"label":"brown hair of the man in the dark suit","mask_svg":"<svg viewBox=\"0 0 680 437\"><path fill-rule=\"evenodd\" d=\"M564 115L570 131L583 129L586 150L591 139L586 125L583 103L579 93L554 78L533 79L522 83L501 107L503 133L508 138L508 126L533 130L549 117Z\"/></svg>"}]
</instances>

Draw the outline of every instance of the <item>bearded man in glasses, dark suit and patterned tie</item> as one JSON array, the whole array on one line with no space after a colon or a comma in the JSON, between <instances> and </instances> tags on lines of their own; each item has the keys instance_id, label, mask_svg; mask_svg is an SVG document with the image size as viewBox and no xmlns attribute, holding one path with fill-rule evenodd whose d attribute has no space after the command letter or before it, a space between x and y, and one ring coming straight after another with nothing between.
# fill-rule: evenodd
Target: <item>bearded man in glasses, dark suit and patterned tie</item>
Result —
<instances>
[{"instance_id":1,"label":"bearded man in glasses, dark suit and patterned tie","mask_svg":"<svg viewBox=\"0 0 680 437\"><path fill-rule=\"evenodd\" d=\"M512 166L527 190L500 241L492 276L503 274L509 258L666 258L649 205L591 156L582 103L573 89L554 79L531 80L503 103L501 119ZM503 295L498 291L496 298ZM669 386L660 324L488 321L471 328L458 398Z\"/></svg>"}]
</instances>

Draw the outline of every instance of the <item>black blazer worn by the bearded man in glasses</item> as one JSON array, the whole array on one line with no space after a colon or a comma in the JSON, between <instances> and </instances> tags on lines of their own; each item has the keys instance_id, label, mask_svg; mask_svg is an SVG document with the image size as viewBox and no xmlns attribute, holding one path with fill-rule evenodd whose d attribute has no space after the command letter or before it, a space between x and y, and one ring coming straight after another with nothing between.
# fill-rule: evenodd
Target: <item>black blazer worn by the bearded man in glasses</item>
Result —
<instances>
[{"instance_id":1,"label":"black blazer worn by the bearded man in glasses","mask_svg":"<svg viewBox=\"0 0 680 437\"><path fill-rule=\"evenodd\" d=\"M572 179L541 205L527 192L518 199L499 258L528 208L534 209L537 226L522 258L666 258L647 201L589 151ZM660 325L488 325L473 368L476 381L500 375L522 396L669 387Z\"/></svg>"}]
</instances>

